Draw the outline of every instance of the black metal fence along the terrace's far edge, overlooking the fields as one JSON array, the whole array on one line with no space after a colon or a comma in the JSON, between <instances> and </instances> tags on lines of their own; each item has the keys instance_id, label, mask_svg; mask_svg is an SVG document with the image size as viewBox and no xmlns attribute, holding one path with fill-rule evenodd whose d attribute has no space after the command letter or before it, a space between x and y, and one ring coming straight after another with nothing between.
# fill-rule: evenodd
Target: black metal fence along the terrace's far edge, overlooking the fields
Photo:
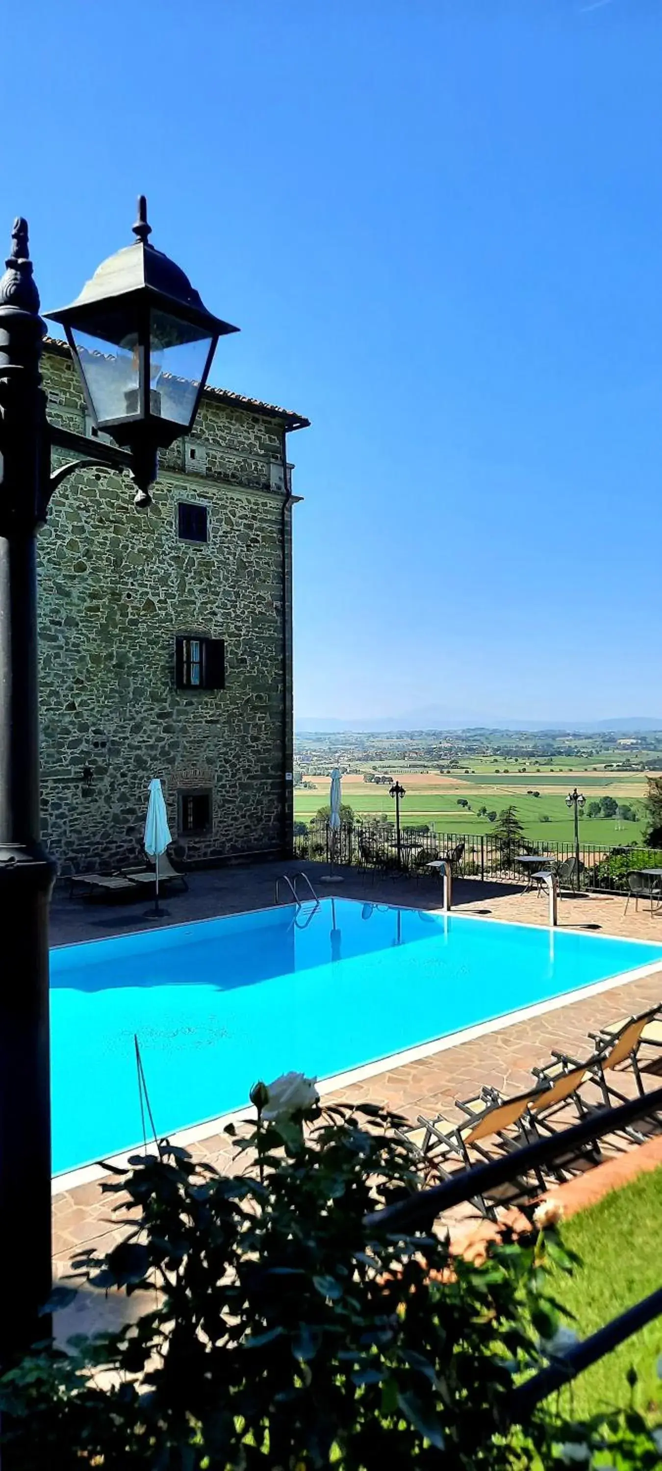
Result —
<instances>
[{"instance_id":1,"label":"black metal fence along the terrace's far edge, overlooking the fields","mask_svg":"<svg viewBox=\"0 0 662 1471\"><path fill-rule=\"evenodd\" d=\"M294 855L375 871L393 869L397 863L396 828L387 821L343 822L334 831L324 819L313 818L310 822L294 824ZM533 841L527 837L509 841L493 833L440 833L425 825L403 825L400 833L405 872L422 874L427 862L450 856L462 878L522 883L522 855L540 858L541 866L553 863L562 887L612 894L628 891L628 872L662 868L662 849L641 843L613 847L605 843L580 843L577 871L574 843Z\"/></svg>"}]
</instances>

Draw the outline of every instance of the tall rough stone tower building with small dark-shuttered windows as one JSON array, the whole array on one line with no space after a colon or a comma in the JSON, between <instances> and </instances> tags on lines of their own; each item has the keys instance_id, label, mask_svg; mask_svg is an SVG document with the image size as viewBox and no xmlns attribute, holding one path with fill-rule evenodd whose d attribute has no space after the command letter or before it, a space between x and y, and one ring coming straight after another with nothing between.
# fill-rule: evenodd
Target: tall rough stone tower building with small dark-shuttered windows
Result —
<instances>
[{"instance_id":1,"label":"tall rough stone tower building with small dark-shuttered windows","mask_svg":"<svg viewBox=\"0 0 662 1471\"><path fill-rule=\"evenodd\" d=\"M49 418L85 424L47 340ZM160 777L188 861L291 846L291 494L297 413L206 388L160 457L154 503L81 469L40 533L43 833L63 872L140 859ZM60 457L62 459L66 456Z\"/></svg>"}]
</instances>

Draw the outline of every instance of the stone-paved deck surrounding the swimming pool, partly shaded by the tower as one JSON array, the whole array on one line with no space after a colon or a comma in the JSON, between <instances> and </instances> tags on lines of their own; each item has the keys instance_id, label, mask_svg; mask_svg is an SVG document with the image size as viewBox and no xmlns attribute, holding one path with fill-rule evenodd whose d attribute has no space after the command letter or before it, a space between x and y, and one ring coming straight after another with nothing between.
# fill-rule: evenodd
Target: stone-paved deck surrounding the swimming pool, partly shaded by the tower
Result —
<instances>
[{"instance_id":1,"label":"stone-paved deck surrounding the swimming pool, partly shaded by the tower","mask_svg":"<svg viewBox=\"0 0 662 1471\"><path fill-rule=\"evenodd\" d=\"M382 880L363 875L355 869L340 869L331 883L322 883L328 869L315 863L260 863L224 868L190 875L187 894L166 894L163 905L168 916L157 921L162 925L204 919L216 915L238 913L260 909L274 903L275 878L282 872L305 869L310 874L319 896L378 900L407 905L418 909L440 908L437 881L424 878ZM562 897L559 902L559 928L584 930L596 934L622 936L631 940L662 943L662 915L650 916L630 905L624 915L625 900L619 896ZM478 915L518 924L544 925L547 918L546 899L508 884L481 884L478 880L459 880L453 888L453 909L460 915ZM144 896L131 905L69 902L66 890L56 893L51 909L51 944L72 944L81 940L97 940L102 936L127 934L131 930L153 928ZM659 974L615 986L597 996L563 1000L562 1005L543 1015L502 1025L487 1036L475 1037L449 1046L443 1052L418 1058L400 1066L387 1066L363 1081L343 1087L338 1097L347 1102L362 1099L385 1103L388 1108L416 1118L418 1114L443 1112L449 1121L460 1115L455 1108L458 1097L478 1093L484 1084L491 1084L506 1093L518 1093L531 1084L531 1068L549 1059L552 1047L560 1047L572 1055L587 1056L590 1043L587 1033L600 1024L628 1016L655 1003L662 1003L662 969ZM662 1056L650 1053L644 1059L650 1074L649 1086L661 1084ZM621 1086L621 1084L619 1084ZM328 1094L334 1097L334 1094ZM193 1155L213 1161L219 1168L231 1165L231 1150L224 1134L212 1134L200 1143L188 1144ZM612 1143L616 1153L630 1147L619 1139ZM107 1249L118 1234L109 1222L109 1199L102 1196L99 1183L79 1184L75 1189L57 1190L53 1194L53 1255L57 1275L66 1271L72 1253L81 1246ZM74 1327L68 1325L68 1331Z\"/></svg>"}]
</instances>

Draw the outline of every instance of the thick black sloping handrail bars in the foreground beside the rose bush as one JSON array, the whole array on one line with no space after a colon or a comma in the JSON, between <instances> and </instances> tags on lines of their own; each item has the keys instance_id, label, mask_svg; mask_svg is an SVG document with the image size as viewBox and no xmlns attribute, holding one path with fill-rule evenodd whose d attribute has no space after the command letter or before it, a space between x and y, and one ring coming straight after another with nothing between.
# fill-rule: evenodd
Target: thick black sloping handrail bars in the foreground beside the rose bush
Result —
<instances>
[{"instance_id":1,"label":"thick black sloping handrail bars in the foreground beside the rose bush","mask_svg":"<svg viewBox=\"0 0 662 1471\"><path fill-rule=\"evenodd\" d=\"M469 1169L458 1169L452 1178L444 1180L441 1184L430 1186L406 1200L399 1200L396 1205L366 1215L363 1224L368 1231L375 1225L380 1225L380 1228L385 1225L394 1236L400 1233L409 1236L416 1230L428 1234L437 1217L444 1211L450 1211L465 1200L475 1200L478 1196L484 1196L499 1186L519 1181L533 1168L540 1169L559 1156L563 1159L568 1156L572 1158L574 1150L583 1144L594 1143L605 1134L615 1134L619 1130L628 1128L638 1118L655 1116L659 1119L661 1109L662 1089L628 1099L627 1103L619 1103L616 1108L605 1106L596 1109L571 1128L559 1130L558 1134L550 1134L546 1139L535 1140L533 1144L513 1149L508 1155L487 1164L474 1165ZM547 1399L549 1395L553 1395L563 1384L569 1384L578 1374L597 1364L599 1359L611 1353L619 1343L630 1339L633 1333L637 1333L661 1315L662 1287L641 1302L634 1303L633 1308L619 1314L618 1318L612 1318L611 1322L606 1322L588 1339L577 1343L563 1353L562 1359L553 1361L544 1370L540 1370L538 1374L518 1384L509 1396L503 1417L505 1422L525 1424L535 1405L541 1403L541 1400Z\"/></svg>"}]
</instances>

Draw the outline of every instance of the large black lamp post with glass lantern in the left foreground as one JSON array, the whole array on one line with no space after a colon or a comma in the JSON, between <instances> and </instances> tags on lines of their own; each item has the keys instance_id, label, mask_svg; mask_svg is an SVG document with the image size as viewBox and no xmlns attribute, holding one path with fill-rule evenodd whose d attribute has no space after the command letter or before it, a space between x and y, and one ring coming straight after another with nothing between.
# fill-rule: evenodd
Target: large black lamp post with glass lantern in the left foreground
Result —
<instances>
[{"instance_id":1,"label":"large black lamp post with glass lantern in the left foreground","mask_svg":"<svg viewBox=\"0 0 662 1471\"><path fill-rule=\"evenodd\" d=\"M149 244L106 260L53 319L69 338L90 412L115 446L50 425L40 357L46 327L16 219L0 279L0 1364L44 1337L51 1281L49 899L56 865L40 841L35 534L56 485L82 465L128 469L150 505L157 450L196 418L218 338L190 281ZM50 450L82 456L50 472ZM22 1267L12 1267L21 1244Z\"/></svg>"}]
</instances>

